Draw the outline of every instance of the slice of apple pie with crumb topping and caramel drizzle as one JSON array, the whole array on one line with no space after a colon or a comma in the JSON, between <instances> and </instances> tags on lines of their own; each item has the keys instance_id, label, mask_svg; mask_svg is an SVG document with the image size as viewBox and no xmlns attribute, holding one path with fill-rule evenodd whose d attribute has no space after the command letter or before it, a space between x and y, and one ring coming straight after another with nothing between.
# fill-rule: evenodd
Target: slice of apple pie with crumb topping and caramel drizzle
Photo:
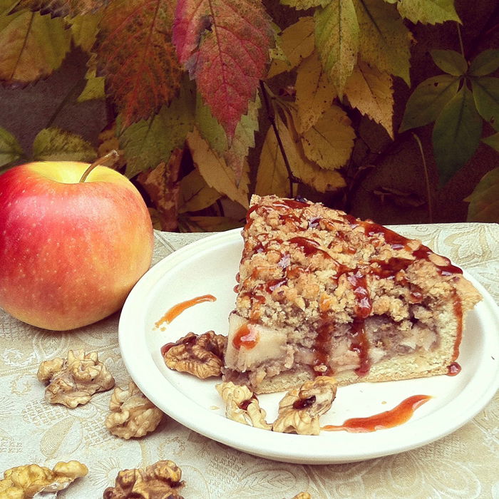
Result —
<instances>
[{"instance_id":1,"label":"slice of apple pie with crumb topping and caramel drizzle","mask_svg":"<svg viewBox=\"0 0 499 499\"><path fill-rule=\"evenodd\" d=\"M447 374L480 294L450 260L371 221L253 196L224 380L255 393Z\"/></svg>"}]
</instances>

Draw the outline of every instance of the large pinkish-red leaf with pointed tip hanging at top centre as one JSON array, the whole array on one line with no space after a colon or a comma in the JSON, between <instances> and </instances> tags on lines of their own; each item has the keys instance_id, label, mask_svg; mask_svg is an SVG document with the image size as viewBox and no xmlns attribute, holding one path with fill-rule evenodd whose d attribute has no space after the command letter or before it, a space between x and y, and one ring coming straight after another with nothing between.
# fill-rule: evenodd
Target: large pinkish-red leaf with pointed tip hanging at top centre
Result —
<instances>
[{"instance_id":1,"label":"large pinkish-red leaf with pointed tip hanging at top centre","mask_svg":"<svg viewBox=\"0 0 499 499\"><path fill-rule=\"evenodd\" d=\"M260 0L179 0L173 43L232 139L264 78L274 34Z\"/></svg>"}]
</instances>

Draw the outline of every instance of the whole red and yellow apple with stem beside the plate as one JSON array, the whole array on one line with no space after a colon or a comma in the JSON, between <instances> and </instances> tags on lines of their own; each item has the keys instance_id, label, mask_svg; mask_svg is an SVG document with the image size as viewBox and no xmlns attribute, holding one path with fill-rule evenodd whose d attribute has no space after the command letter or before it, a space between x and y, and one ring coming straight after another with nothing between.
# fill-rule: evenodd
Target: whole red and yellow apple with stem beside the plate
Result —
<instances>
[{"instance_id":1,"label":"whole red and yellow apple with stem beside the plate","mask_svg":"<svg viewBox=\"0 0 499 499\"><path fill-rule=\"evenodd\" d=\"M29 163L0 175L0 307L43 329L103 319L150 267L153 227L120 173Z\"/></svg>"}]
</instances>

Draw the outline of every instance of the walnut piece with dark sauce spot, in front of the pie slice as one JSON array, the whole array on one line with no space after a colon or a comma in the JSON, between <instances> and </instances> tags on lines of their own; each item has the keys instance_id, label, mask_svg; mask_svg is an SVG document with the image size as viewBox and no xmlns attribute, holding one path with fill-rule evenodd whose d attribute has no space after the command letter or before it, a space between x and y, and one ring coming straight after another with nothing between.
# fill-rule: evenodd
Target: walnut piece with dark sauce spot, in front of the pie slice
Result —
<instances>
[{"instance_id":1,"label":"walnut piece with dark sauce spot, in front of the pie slice","mask_svg":"<svg viewBox=\"0 0 499 499\"><path fill-rule=\"evenodd\" d=\"M279 402L279 413L272 429L281 433L319 435L319 417L329 411L336 396L336 380L317 376L299 389L289 390Z\"/></svg>"}]
</instances>

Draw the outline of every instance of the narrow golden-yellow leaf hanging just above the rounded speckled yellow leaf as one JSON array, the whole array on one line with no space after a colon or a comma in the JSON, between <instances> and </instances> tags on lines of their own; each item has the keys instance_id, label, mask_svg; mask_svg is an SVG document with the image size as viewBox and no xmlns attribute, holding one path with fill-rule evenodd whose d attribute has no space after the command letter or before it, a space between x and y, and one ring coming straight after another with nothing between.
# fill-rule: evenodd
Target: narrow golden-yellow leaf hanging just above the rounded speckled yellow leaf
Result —
<instances>
[{"instance_id":1,"label":"narrow golden-yellow leaf hanging just above the rounded speckled yellow leaf","mask_svg":"<svg viewBox=\"0 0 499 499\"><path fill-rule=\"evenodd\" d=\"M305 132L317 123L336 97L334 85L324 73L316 52L299 65L296 89L299 131Z\"/></svg>"}]
</instances>

